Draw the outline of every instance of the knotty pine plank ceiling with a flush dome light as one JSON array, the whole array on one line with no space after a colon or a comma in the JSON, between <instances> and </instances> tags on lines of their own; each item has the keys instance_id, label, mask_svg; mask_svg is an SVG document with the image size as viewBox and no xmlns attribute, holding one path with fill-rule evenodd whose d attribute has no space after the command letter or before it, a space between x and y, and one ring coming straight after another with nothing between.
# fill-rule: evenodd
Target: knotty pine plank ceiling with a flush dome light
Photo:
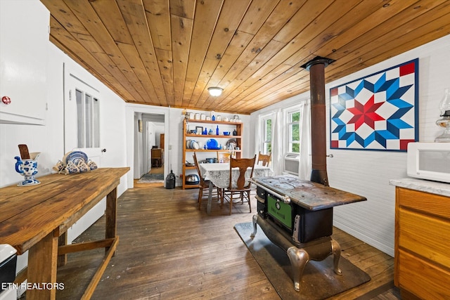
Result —
<instances>
[{"instance_id":1,"label":"knotty pine plank ceiling with a flush dome light","mask_svg":"<svg viewBox=\"0 0 450 300\"><path fill-rule=\"evenodd\" d=\"M128 103L249 114L450 34L445 0L41 0L50 40ZM211 97L210 86L224 92Z\"/></svg>"}]
</instances>

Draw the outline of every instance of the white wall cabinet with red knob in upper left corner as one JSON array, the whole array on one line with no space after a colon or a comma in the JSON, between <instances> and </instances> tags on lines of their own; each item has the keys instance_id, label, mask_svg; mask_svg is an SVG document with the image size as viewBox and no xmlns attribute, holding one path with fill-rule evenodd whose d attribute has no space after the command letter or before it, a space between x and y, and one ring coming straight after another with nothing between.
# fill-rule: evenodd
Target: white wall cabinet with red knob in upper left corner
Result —
<instances>
[{"instance_id":1,"label":"white wall cabinet with red knob in upper left corner","mask_svg":"<svg viewBox=\"0 0 450 300\"><path fill-rule=\"evenodd\" d=\"M0 123L45 122L49 20L40 1L0 1Z\"/></svg>"}]
</instances>

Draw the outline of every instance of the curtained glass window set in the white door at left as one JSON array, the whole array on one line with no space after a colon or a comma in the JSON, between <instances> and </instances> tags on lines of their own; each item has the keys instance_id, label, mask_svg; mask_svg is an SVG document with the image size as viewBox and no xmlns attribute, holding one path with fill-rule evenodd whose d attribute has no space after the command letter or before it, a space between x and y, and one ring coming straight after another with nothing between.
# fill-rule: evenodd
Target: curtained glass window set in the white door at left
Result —
<instances>
[{"instance_id":1,"label":"curtained glass window set in the white door at left","mask_svg":"<svg viewBox=\"0 0 450 300\"><path fill-rule=\"evenodd\" d=\"M98 98L75 89L77 100L77 147L100 147L100 126L98 122Z\"/></svg>"}]
</instances>

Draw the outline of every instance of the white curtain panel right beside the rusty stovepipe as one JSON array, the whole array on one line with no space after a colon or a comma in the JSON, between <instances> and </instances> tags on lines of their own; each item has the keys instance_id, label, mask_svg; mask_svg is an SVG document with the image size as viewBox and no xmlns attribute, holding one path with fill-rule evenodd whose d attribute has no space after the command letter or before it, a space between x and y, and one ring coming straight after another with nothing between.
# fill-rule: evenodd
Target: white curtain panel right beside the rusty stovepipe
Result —
<instances>
[{"instance_id":1,"label":"white curtain panel right beside the rusty stovepipe","mask_svg":"<svg viewBox=\"0 0 450 300\"><path fill-rule=\"evenodd\" d=\"M305 100L301 109L300 164L298 177L303 180L311 178L311 100Z\"/></svg>"}]
</instances>

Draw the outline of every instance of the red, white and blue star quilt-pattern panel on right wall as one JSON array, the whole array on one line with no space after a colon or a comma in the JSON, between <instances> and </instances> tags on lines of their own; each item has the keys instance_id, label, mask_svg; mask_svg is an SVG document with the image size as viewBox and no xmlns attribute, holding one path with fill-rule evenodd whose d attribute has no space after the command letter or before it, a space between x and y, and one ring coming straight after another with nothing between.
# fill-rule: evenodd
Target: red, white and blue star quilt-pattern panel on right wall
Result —
<instances>
[{"instance_id":1,"label":"red, white and blue star quilt-pattern panel on right wall","mask_svg":"<svg viewBox=\"0 0 450 300\"><path fill-rule=\"evenodd\" d=\"M330 89L330 148L406 151L418 141L418 58Z\"/></svg>"}]
</instances>

